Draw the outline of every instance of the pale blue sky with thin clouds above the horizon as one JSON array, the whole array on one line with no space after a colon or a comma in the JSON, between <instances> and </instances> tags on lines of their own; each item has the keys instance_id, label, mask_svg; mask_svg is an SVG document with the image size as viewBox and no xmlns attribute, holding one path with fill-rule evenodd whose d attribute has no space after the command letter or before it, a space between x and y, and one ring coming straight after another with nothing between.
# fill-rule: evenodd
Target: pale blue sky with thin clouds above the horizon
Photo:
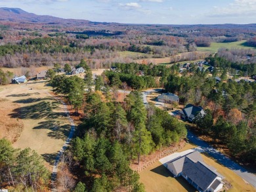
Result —
<instances>
[{"instance_id":1,"label":"pale blue sky with thin clouds above the horizon","mask_svg":"<svg viewBox=\"0 0 256 192\"><path fill-rule=\"evenodd\" d=\"M0 0L0 7L124 24L256 23L256 0Z\"/></svg>"}]
</instances>

